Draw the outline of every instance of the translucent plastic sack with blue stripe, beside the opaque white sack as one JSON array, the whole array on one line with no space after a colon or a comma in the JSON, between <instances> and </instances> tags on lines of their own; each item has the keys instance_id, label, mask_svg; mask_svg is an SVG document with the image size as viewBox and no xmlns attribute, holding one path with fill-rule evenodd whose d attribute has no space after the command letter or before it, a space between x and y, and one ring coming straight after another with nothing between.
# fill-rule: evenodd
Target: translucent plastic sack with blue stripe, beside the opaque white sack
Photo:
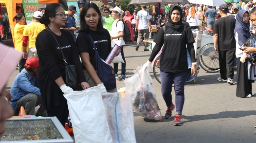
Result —
<instances>
[{"instance_id":1,"label":"translucent plastic sack with blue stripe, beside the opaque white sack","mask_svg":"<svg viewBox=\"0 0 256 143\"><path fill-rule=\"evenodd\" d=\"M102 94L113 143L136 143L131 97L125 93Z\"/></svg>"}]
</instances>

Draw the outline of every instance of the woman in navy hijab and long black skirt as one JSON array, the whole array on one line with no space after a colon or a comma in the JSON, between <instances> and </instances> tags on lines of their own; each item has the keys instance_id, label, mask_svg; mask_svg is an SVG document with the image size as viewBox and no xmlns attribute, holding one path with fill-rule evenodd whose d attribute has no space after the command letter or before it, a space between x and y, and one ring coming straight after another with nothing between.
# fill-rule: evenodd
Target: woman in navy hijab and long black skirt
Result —
<instances>
[{"instance_id":1,"label":"woman in navy hijab and long black skirt","mask_svg":"<svg viewBox=\"0 0 256 143\"><path fill-rule=\"evenodd\" d=\"M234 30L237 49L236 56L238 59L238 68L237 68L237 97L252 97L252 83L254 83L254 72L250 69L254 69L250 54L247 54L247 59L244 63L240 61L243 51L240 48L244 47L253 47L254 46L254 37L250 33L248 27L249 13L242 9L238 11L236 28ZM253 76L251 74L253 74Z\"/></svg>"}]
</instances>

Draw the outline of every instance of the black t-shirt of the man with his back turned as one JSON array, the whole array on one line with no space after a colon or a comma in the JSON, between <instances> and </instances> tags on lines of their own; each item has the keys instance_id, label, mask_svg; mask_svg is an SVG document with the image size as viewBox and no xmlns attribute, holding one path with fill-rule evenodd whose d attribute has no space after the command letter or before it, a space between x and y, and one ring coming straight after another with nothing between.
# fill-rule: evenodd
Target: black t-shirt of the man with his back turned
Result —
<instances>
[{"instance_id":1,"label":"black t-shirt of the man with his back turned","mask_svg":"<svg viewBox=\"0 0 256 143\"><path fill-rule=\"evenodd\" d=\"M220 17L214 23L213 34L218 34L218 50L232 50L236 48L234 17Z\"/></svg>"}]
</instances>

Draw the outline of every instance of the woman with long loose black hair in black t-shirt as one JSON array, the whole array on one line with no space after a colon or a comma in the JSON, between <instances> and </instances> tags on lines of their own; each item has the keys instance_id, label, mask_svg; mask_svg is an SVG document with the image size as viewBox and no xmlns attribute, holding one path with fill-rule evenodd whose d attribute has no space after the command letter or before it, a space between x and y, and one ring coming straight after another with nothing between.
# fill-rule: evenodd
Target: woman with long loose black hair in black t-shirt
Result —
<instances>
[{"instance_id":1,"label":"woman with long loose black hair in black t-shirt","mask_svg":"<svg viewBox=\"0 0 256 143\"><path fill-rule=\"evenodd\" d=\"M76 46L80 52L83 72L85 78L88 80L88 84L91 87L99 85L101 87L101 93L106 93L107 91L110 93L117 92L117 88L106 89L96 72L95 50L93 49L91 38L101 59L106 60L111 51L110 34L107 29L103 28L100 9L94 3L86 4L82 8L80 19L81 25Z\"/></svg>"}]
</instances>

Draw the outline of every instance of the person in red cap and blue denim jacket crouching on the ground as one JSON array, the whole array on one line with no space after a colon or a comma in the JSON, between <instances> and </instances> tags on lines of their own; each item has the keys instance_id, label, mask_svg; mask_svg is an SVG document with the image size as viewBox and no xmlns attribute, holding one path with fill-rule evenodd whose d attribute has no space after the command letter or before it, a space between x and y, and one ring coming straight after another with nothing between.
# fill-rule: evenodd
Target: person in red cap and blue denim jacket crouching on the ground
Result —
<instances>
[{"instance_id":1,"label":"person in red cap and blue denim jacket crouching on the ground","mask_svg":"<svg viewBox=\"0 0 256 143\"><path fill-rule=\"evenodd\" d=\"M42 103L42 97L37 82L39 62L37 58L27 59L24 69L14 79L10 93L12 95L10 105L16 109L14 115L18 115L21 106L25 108L27 115L36 115L35 107ZM46 117L46 111L39 108L38 116Z\"/></svg>"}]
</instances>

